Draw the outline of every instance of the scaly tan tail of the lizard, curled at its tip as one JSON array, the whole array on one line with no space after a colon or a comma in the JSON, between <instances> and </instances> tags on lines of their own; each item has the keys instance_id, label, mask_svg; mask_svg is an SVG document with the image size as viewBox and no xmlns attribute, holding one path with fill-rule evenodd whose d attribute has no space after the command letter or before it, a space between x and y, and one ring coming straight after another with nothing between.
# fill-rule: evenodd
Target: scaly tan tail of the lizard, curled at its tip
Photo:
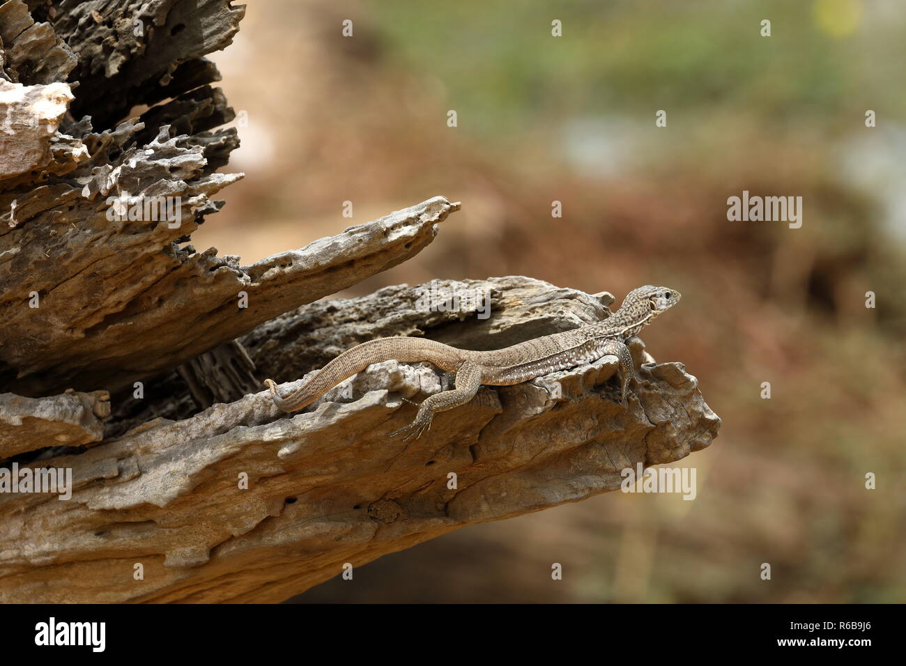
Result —
<instances>
[{"instance_id":1,"label":"scaly tan tail of the lizard, curled at its tip","mask_svg":"<svg viewBox=\"0 0 906 666\"><path fill-rule=\"evenodd\" d=\"M273 380L265 380L274 404L284 411L301 410L312 404L341 381L382 361L429 361L447 372L455 371L461 358L458 349L421 338L378 338L352 347L327 363L317 374L287 396L277 392Z\"/></svg>"}]
</instances>

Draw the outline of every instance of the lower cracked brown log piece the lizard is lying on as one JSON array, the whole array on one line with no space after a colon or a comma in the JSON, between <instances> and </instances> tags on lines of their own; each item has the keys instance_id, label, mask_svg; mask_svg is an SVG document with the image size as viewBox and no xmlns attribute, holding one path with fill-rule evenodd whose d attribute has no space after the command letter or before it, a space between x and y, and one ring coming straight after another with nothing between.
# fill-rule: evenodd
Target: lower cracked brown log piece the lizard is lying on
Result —
<instances>
[{"instance_id":1,"label":"lower cracked brown log piece the lizard is lying on","mask_svg":"<svg viewBox=\"0 0 906 666\"><path fill-rule=\"evenodd\" d=\"M598 298L527 278L458 285L476 288L492 298L484 321L425 310L423 289L392 287L305 306L245 343L266 367L379 334L506 345L606 313ZM361 320L366 313L377 316ZM280 346L300 329L306 335ZM275 410L261 392L32 463L72 468L72 499L0 497L0 599L281 601L346 563L613 490L623 468L683 458L708 446L719 424L681 364L643 364L641 343L632 352L642 381L628 412L605 357L485 388L440 414L427 436L402 442L388 437L413 416L402 398L439 391L443 380L428 364L385 362L302 414ZM133 579L137 564L142 580Z\"/></svg>"}]
</instances>

